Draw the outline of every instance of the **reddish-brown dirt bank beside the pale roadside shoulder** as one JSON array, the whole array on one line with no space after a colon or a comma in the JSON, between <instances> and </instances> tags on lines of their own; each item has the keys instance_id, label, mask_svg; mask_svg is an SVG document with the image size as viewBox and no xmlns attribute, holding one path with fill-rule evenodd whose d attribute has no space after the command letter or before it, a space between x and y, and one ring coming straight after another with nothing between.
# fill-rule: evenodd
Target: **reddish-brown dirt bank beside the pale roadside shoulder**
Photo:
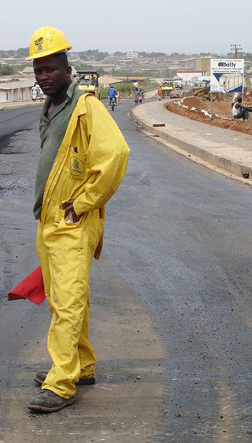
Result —
<instances>
[{"instance_id":1,"label":"reddish-brown dirt bank beside the pale roadside shoulder","mask_svg":"<svg viewBox=\"0 0 252 443\"><path fill-rule=\"evenodd\" d=\"M186 97L185 99L173 101L169 103L166 108L171 112L183 115L183 117L188 117L197 122L252 134L252 115L250 115L251 120L247 122L243 119L235 120L232 115L231 103L228 101L215 101L213 103L213 114L210 110L210 102L203 101L198 97Z\"/></svg>"}]
</instances>

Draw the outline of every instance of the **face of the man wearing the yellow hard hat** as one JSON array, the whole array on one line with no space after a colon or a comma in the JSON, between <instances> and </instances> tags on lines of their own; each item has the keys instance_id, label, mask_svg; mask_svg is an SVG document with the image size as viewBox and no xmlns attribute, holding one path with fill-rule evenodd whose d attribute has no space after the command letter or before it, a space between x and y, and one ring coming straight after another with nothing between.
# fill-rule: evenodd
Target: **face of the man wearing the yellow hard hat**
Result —
<instances>
[{"instance_id":1,"label":"face of the man wearing the yellow hard hat","mask_svg":"<svg viewBox=\"0 0 252 443\"><path fill-rule=\"evenodd\" d=\"M58 94L69 84L72 71L71 67L63 67L62 60L54 55L35 58L33 69L37 83L49 96Z\"/></svg>"}]
</instances>

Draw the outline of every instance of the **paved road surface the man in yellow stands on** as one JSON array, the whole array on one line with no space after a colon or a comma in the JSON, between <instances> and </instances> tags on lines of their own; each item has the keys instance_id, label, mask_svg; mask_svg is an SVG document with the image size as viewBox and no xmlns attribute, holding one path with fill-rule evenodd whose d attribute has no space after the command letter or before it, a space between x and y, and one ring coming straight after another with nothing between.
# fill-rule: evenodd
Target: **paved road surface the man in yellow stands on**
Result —
<instances>
[{"instance_id":1,"label":"paved road surface the man in yellow stands on","mask_svg":"<svg viewBox=\"0 0 252 443\"><path fill-rule=\"evenodd\" d=\"M91 276L98 383L49 416L26 410L47 308L5 301L37 265L37 126L1 144L1 443L251 442L251 190L162 147L130 106L113 113L131 157Z\"/></svg>"}]
</instances>

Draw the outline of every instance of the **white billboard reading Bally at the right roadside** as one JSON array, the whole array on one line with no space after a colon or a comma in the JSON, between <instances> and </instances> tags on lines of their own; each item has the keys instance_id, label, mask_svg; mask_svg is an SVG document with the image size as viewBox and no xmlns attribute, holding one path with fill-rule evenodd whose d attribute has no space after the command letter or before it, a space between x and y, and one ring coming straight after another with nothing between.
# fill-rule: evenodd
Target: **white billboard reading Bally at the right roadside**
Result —
<instances>
[{"instance_id":1,"label":"white billboard reading Bally at the right roadside","mask_svg":"<svg viewBox=\"0 0 252 443\"><path fill-rule=\"evenodd\" d=\"M212 58L211 92L243 92L244 60Z\"/></svg>"}]
</instances>

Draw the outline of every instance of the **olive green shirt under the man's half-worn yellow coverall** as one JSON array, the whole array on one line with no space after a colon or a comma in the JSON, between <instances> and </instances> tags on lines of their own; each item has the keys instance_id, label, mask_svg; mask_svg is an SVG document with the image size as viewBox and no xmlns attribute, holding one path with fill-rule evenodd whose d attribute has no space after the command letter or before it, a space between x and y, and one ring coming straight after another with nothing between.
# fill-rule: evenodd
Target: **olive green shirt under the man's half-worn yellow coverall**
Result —
<instances>
[{"instance_id":1,"label":"olive green shirt under the man's half-worn yellow coverall","mask_svg":"<svg viewBox=\"0 0 252 443\"><path fill-rule=\"evenodd\" d=\"M35 219L40 219L42 210L44 188L51 172L53 162L56 159L58 149L62 143L72 112L78 99L84 92L78 89L76 83L71 83L67 90L67 99L56 109L50 119L46 117L51 104L50 97L44 102L44 108L40 117L41 153L35 176L35 203L33 214Z\"/></svg>"}]
</instances>

